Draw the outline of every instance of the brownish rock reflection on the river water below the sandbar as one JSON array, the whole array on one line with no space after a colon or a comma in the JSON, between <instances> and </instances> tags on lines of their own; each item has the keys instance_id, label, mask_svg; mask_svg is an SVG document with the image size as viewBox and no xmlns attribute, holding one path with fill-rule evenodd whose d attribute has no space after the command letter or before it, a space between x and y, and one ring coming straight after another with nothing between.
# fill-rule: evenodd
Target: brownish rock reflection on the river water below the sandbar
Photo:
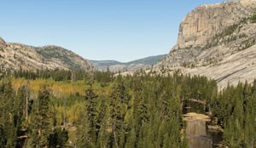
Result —
<instances>
[{"instance_id":1,"label":"brownish rock reflection on the river water below the sandbar","mask_svg":"<svg viewBox=\"0 0 256 148\"><path fill-rule=\"evenodd\" d=\"M212 139L207 135L205 121L188 121L186 133L189 137L190 148L212 148Z\"/></svg>"}]
</instances>

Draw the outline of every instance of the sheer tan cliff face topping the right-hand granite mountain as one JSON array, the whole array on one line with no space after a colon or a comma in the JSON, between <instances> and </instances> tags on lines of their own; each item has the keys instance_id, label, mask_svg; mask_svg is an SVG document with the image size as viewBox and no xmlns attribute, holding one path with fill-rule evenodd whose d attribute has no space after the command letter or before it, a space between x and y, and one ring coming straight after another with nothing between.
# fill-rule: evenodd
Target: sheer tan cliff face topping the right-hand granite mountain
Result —
<instances>
[{"instance_id":1,"label":"sheer tan cliff face topping the right-hand granite mountain","mask_svg":"<svg viewBox=\"0 0 256 148\"><path fill-rule=\"evenodd\" d=\"M253 2L256 1L217 3L196 8L181 23L176 48L207 46L214 35L252 14L256 4Z\"/></svg>"}]
</instances>

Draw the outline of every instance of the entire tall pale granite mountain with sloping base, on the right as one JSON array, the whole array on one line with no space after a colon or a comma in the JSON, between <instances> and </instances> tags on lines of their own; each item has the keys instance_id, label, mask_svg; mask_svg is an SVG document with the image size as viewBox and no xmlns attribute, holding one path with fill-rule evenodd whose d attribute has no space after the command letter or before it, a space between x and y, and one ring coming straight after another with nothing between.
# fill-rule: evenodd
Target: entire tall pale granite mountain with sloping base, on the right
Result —
<instances>
[{"instance_id":1,"label":"entire tall pale granite mountain with sloping base, on the right","mask_svg":"<svg viewBox=\"0 0 256 148\"><path fill-rule=\"evenodd\" d=\"M217 80L223 88L256 78L256 0L202 5L180 24L177 44L156 71Z\"/></svg>"}]
</instances>

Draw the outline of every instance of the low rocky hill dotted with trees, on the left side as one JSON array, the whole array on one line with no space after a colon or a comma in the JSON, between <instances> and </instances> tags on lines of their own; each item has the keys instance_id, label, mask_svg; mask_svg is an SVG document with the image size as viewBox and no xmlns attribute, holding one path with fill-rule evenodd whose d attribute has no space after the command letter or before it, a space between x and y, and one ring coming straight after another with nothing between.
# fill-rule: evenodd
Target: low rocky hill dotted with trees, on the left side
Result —
<instances>
[{"instance_id":1,"label":"low rocky hill dotted with trees, on the left side","mask_svg":"<svg viewBox=\"0 0 256 148\"><path fill-rule=\"evenodd\" d=\"M5 43L0 38L0 69L2 71L76 70L93 71L89 60L57 46L32 47Z\"/></svg>"}]
</instances>

